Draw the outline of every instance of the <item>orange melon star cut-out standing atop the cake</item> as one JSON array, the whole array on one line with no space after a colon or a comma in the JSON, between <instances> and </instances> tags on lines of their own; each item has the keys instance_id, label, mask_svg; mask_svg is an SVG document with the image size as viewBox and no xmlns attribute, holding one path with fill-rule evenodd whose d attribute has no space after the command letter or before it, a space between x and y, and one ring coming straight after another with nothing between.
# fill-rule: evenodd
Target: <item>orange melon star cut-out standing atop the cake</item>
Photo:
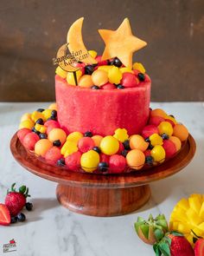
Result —
<instances>
[{"instance_id":1,"label":"orange melon star cut-out standing atop the cake","mask_svg":"<svg viewBox=\"0 0 204 256\"><path fill-rule=\"evenodd\" d=\"M102 60L118 57L126 67L132 67L132 55L142 49L147 43L133 36L128 18L118 27L118 30L98 30L105 42Z\"/></svg>"}]
</instances>

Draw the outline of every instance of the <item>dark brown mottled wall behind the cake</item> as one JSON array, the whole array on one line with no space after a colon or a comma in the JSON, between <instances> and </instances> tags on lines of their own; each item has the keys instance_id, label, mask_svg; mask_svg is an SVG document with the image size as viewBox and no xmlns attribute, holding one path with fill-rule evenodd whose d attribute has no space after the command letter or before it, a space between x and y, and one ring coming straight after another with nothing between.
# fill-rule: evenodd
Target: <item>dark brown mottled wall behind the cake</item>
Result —
<instances>
[{"instance_id":1,"label":"dark brown mottled wall behind the cake","mask_svg":"<svg viewBox=\"0 0 204 256\"><path fill-rule=\"evenodd\" d=\"M148 43L134 55L152 79L152 101L204 100L203 0L22 0L0 2L0 101L54 101L52 58L85 16L83 37L99 53L97 29L129 17Z\"/></svg>"}]
</instances>

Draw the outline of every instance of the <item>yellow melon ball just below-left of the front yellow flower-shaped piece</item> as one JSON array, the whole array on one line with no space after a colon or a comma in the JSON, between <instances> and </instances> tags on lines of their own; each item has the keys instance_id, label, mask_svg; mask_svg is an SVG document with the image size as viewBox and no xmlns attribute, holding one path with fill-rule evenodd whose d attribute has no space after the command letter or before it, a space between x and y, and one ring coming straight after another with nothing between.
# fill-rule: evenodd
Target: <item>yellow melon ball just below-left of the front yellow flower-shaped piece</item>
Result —
<instances>
[{"instance_id":1,"label":"yellow melon ball just below-left of the front yellow flower-shaped piece","mask_svg":"<svg viewBox=\"0 0 204 256\"><path fill-rule=\"evenodd\" d=\"M119 149L119 141L113 136L105 136L100 142L101 152L104 154L116 154Z\"/></svg>"}]
</instances>

